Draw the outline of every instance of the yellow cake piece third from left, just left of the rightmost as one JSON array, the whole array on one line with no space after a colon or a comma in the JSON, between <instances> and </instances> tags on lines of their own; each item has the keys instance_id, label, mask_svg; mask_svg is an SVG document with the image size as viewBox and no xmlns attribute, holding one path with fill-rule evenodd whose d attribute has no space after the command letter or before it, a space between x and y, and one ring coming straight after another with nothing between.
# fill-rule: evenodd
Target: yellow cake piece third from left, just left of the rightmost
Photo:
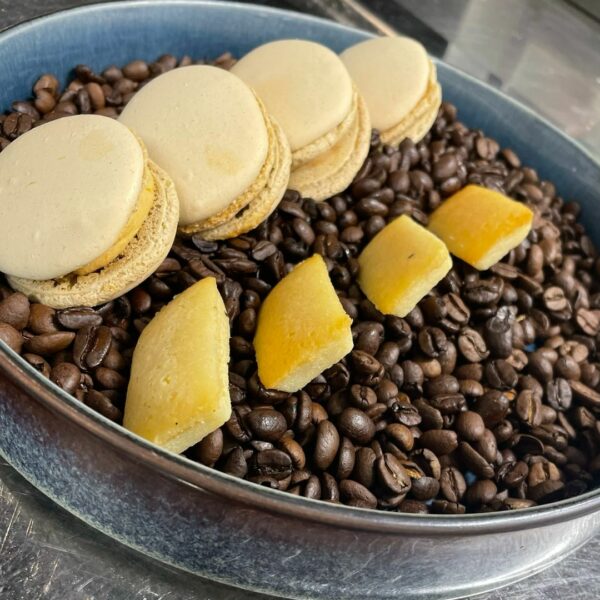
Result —
<instances>
[{"instance_id":1,"label":"yellow cake piece third from left, just left of the rightmost","mask_svg":"<svg viewBox=\"0 0 600 600\"><path fill-rule=\"evenodd\" d=\"M448 273L446 246L407 215L386 225L358 257L358 283L379 311L406 316Z\"/></svg>"}]
</instances>

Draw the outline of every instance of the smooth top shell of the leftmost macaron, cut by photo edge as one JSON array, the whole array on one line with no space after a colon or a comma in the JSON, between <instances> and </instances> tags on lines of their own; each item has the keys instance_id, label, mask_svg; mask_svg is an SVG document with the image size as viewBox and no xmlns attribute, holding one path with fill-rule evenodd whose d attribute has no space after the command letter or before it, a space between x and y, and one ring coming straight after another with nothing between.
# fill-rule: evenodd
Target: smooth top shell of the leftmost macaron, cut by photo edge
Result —
<instances>
[{"instance_id":1,"label":"smooth top shell of the leftmost macaron, cut by photo edge","mask_svg":"<svg viewBox=\"0 0 600 600\"><path fill-rule=\"evenodd\" d=\"M136 207L144 154L108 117L51 121L0 153L0 271L67 275L106 252Z\"/></svg>"}]
</instances>

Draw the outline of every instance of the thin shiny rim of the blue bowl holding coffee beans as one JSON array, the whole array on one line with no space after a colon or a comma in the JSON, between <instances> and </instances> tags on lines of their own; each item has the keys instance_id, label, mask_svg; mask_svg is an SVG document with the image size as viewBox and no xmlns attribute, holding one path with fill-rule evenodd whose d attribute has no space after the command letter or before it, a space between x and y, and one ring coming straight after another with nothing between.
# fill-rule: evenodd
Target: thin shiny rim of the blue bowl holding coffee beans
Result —
<instances>
[{"instance_id":1,"label":"thin shiny rim of the blue bowl holding coffee beans","mask_svg":"<svg viewBox=\"0 0 600 600\"><path fill-rule=\"evenodd\" d=\"M60 21L61 19L74 19L78 15L104 10L120 11L124 9L141 10L167 5L179 7L204 7L204 9L223 9L224 5L236 11L261 13L270 18L293 17L294 20L304 23L326 24L329 28L340 32L360 32L372 35L359 29L348 27L333 21L328 21L313 15L297 13L294 11L265 7L261 5L241 4L238 2L222 2L219 0L172 0L170 2L154 2L151 0L120 0L110 3L95 3L58 10L12 25L0 31L0 43L15 35L22 35L27 30L43 26L44 23ZM596 158L582 144L567 136L555 125L541 117L533 110L524 106L517 100L510 98L500 90L489 84L479 81L462 70L436 60L446 69L456 73L463 79L476 82L503 97L521 111L529 113L531 118L541 122L554 134L562 137L577 151L584 154L587 159L600 171L600 164ZM99 413L93 411L82 402L67 394L41 373L36 371L21 356L0 341L0 373L9 381L25 392L34 401L40 402L50 409L55 415L68 419L81 429L85 435L93 435L104 443L110 444L116 451L126 454L143 464L146 468L169 479L179 480L225 497L231 501L248 504L255 510L263 510L287 517L294 517L313 521L323 525L341 527L344 529L363 530L376 532L383 535L412 534L430 535L434 537L449 535L482 535L515 530L531 529L550 525L559 521L575 519L589 514L600 508L600 488L586 492L573 498L559 502L535 506L517 511L494 513L475 513L464 515L420 515L408 513L392 513L375 509L363 509L330 504L320 500L294 496L287 492L261 487L252 482L238 479L226 473L206 467L194 462L185 456L176 455L163 450L159 446L148 442L140 436L128 431L123 426L113 423ZM1 448L0 454L5 454ZM5 457L12 464L8 457ZM18 470L18 469L17 469ZM27 474L21 474L29 479ZM36 482L30 479L35 486ZM44 492L46 493L46 492ZM56 500L56 498L54 498ZM60 503L62 505L62 503ZM63 506L69 510L68 506ZM79 515L81 517L81 515Z\"/></svg>"}]
</instances>

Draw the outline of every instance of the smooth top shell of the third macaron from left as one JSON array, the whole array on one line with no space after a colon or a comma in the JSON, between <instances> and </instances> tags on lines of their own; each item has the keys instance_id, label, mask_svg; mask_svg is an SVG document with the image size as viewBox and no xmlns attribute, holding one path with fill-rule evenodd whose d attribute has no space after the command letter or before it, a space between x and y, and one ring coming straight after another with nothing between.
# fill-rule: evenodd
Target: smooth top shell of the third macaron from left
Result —
<instances>
[{"instance_id":1,"label":"smooth top shell of the third macaron from left","mask_svg":"<svg viewBox=\"0 0 600 600\"><path fill-rule=\"evenodd\" d=\"M292 152L337 127L352 107L352 80L320 44L280 40L252 50L231 69L283 128Z\"/></svg>"}]
</instances>

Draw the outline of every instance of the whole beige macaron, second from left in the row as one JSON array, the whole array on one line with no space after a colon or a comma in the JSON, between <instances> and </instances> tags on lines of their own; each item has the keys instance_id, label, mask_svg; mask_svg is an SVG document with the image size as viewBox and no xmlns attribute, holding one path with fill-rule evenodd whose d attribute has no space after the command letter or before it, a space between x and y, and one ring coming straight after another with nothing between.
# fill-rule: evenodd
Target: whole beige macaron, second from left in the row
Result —
<instances>
[{"instance_id":1,"label":"whole beige macaron, second from left in the row","mask_svg":"<svg viewBox=\"0 0 600 600\"><path fill-rule=\"evenodd\" d=\"M194 65L160 75L119 120L173 178L183 234L214 240L245 233L285 193L287 140L255 93L223 69Z\"/></svg>"}]
</instances>

